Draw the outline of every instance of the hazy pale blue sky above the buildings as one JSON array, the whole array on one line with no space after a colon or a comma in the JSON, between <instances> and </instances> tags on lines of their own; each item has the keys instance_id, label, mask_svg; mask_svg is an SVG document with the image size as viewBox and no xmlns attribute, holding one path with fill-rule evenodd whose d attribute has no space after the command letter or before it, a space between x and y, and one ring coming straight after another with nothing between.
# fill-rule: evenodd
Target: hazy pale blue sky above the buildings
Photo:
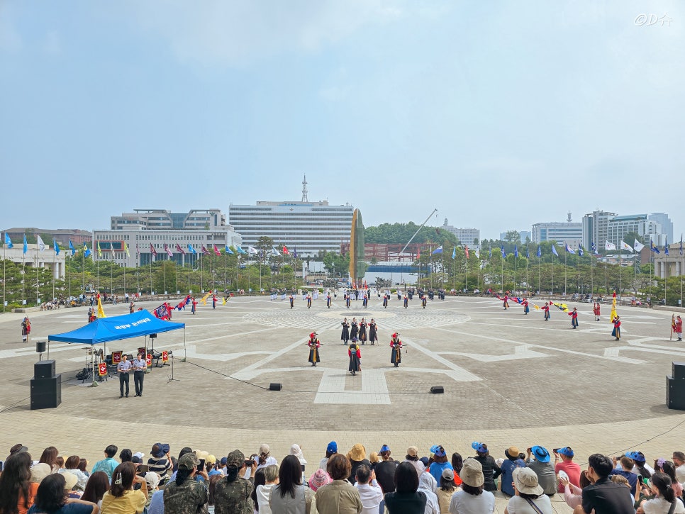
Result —
<instances>
[{"instance_id":1,"label":"hazy pale blue sky above the buildings","mask_svg":"<svg viewBox=\"0 0 685 514\"><path fill-rule=\"evenodd\" d=\"M0 2L0 230L308 199L685 230L685 3Z\"/></svg>"}]
</instances>

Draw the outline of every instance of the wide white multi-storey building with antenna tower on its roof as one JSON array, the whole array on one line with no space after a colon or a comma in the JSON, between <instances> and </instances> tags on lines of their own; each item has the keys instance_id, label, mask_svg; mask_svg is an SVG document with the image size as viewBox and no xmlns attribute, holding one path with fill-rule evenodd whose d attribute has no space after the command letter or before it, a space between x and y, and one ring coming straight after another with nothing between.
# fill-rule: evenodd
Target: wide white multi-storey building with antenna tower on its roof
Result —
<instances>
[{"instance_id":1,"label":"wide white multi-storey building with antenna tower on its roof","mask_svg":"<svg viewBox=\"0 0 685 514\"><path fill-rule=\"evenodd\" d=\"M301 201L257 201L256 205L234 205L228 218L243 236L243 244L256 245L262 237L274 244L297 250L299 257L317 255L321 250L339 252L341 243L350 242L352 213L349 203L332 206L328 201L309 201L306 177Z\"/></svg>"}]
</instances>

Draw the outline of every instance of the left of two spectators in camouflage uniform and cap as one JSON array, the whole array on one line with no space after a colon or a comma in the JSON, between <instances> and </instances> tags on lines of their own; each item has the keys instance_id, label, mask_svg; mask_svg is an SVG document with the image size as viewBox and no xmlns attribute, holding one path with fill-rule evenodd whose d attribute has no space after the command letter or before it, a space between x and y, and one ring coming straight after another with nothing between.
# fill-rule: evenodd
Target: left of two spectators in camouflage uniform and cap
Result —
<instances>
[{"instance_id":1,"label":"left of two spectators in camouflage uniform and cap","mask_svg":"<svg viewBox=\"0 0 685 514\"><path fill-rule=\"evenodd\" d=\"M169 481L162 491L164 514L207 514L207 490L204 484L194 481L199 464L194 452L188 452L179 458L176 478ZM150 502L151 512L157 494L159 493L155 493L155 498Z\"/></svg>"}]
</instances>

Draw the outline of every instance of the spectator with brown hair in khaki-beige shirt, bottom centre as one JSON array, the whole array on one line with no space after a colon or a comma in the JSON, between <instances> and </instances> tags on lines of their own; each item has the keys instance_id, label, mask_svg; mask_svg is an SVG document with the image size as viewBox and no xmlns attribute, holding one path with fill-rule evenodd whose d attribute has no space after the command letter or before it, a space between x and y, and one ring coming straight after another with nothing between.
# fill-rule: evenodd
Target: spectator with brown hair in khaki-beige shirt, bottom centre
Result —
<instances>
[{"instance_id":1,"label":"spectator with brown hair in khaki-beige shirt, bottom centre","mask_svg":"<svg viewBox=\"0 0 685 514\"><path fill-rule=\"evenodd\" d=\"M368 465L368 461L366 464ZM335 454L330 457L326 471L333 481L318 488L315 495L316 510L319 514L360 514L362 512L359 489L352 486L348 480L350 470L350 461L344 455Z\"/></svg>"}]
</instances>

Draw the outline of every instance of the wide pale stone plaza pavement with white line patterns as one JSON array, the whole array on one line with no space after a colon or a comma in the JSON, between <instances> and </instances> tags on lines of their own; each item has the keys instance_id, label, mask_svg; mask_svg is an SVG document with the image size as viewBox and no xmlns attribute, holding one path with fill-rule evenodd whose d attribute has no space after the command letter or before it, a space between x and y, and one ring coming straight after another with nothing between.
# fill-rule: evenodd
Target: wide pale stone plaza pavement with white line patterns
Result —
<instances>
[{"instance_id":1,"label":"wide pale stone plaza pavement with white line patterns","mask_svg":"<svg viewBox=\"0 0 685 514\"><path fill-rule=\"evenodd\" d=\"M542 301L533 301L542 305ZM157 303L140 304L153 308ZM531 308L505 311L493 298L418 300L404 309L396 296L387 309L378 298L346 309L323 298L311 309L298 298L231 298L216 309L199 306L174 311L185 330L160 334L156 350L174 352L174 366L145 376L143 398L119 398L116 377L97 387L73 381L86 363L83 345L55 343L50 358L62 373L62 404L29 410L36 340L74 330L87 308L31 313L30 344L21 342L23 314L0 315L0 451L21 442L37 458L55 445L60 454L79 454L92 464L108 444L149 454L155 442L168 442L217 456L240 448L249 454L267 442L277 459L292 443L303 448L309 474L330 440L340 452L362 442L367 454L387 444L403 458L416 445L472 455L471 442L486 442L495 458L511 445L525 449L571 446L576 461L589 454L640 449L648 462L685 449L685 412L665 405L665 376L672 361L685 361L685 344L669 340L671 313L620 307L623 337L611 337L609 305L600 322L589 303L579 308L580 326L570 328L566 313L552 311L549 322ZM128 306L105 306L108 316ZM377 345L362 346L362 372L347 373L347 348L340 321L356 315L379 325ZM323 342L321 364L307 362L308 334ZM406 351L402 364L390 363L389 339L399 331ZM144 339L108 345L106 351L135 353ZM185 362L183 359L185 357ZM174 380L169 380L172 378ZM269 383L283 384L268 391ZM430 394L444 386L444 394ZM555 509L567 512L563 501ZM498 499L503 511L506 499Z\"/></svg>"}]
</instances>

